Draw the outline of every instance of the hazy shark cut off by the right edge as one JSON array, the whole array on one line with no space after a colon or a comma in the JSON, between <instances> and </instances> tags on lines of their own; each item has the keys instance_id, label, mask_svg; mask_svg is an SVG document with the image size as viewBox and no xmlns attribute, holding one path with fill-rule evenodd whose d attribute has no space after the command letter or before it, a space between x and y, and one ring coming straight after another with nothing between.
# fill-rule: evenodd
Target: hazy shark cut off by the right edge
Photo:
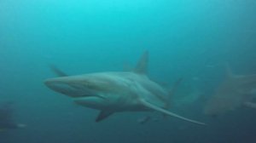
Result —
<instances>
[{"instance_id":1,"label":"hazy shark cut off by the right edge","mask_svg":"<svg viewBox=\"0 0 256 143\"><path fill-rule=\"evenodd\" d=\"M220 115L234 111L241 106L256 108L255 94L256 75L235 75L230 67L226 67L224 82L218 87L216 94L207 101L204 113Z\"/></svg>"}]
</instances>

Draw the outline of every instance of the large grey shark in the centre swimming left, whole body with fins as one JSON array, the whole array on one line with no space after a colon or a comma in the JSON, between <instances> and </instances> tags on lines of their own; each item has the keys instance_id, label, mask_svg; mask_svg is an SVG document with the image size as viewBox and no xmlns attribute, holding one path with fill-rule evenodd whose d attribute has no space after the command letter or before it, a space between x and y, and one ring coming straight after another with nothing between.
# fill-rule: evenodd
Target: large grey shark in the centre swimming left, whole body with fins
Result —
<instances>
[{"instance_id":1,"label":"large grey shark in the centre swimming left, whole body with fins","mask_svg":"<svg viewBox=\"0 0 256 143\"><path fill-rule=\"evenodd\" d=\"M190 123L201 123L167 111L168 92L158 83L150 80L146 73L148 51L146 51L132 72L98 72L78 76L66 73L52 66L59 77L45 80L45 85L58 93L72 97L80 106L101 111L96 122L114 112L161 112Z\"/></svg>"}]
</instances>

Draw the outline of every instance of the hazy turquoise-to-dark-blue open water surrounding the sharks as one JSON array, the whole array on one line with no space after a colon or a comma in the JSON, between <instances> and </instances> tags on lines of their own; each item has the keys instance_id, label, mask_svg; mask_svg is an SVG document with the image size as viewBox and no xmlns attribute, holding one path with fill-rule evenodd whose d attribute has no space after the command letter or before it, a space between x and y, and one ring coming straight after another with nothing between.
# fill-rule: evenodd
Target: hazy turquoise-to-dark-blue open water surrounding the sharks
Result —
<instances>
[{"instance_id":1,"label":"hazy turquoise-to-dark-blue open water surrounding the sharks","mask_svg":"<svg viewBox=\"0 0 256 143\"><path fill-rule=\"evenodd\" d=\"M121 71L148 49L150 77L170 84L183 77L183 87L210 96L225 62L256 73L255 14L253 0L0 0L0 101L14 101L16 121L27 124L0 133L0 142L255 142L252 109L211 118L196 100L172 111L206 127L174 118L140 125L144 113L95 123L96 111L43 83L54 77L51 63L69 74Z\"/></svg>"}]
</instances>

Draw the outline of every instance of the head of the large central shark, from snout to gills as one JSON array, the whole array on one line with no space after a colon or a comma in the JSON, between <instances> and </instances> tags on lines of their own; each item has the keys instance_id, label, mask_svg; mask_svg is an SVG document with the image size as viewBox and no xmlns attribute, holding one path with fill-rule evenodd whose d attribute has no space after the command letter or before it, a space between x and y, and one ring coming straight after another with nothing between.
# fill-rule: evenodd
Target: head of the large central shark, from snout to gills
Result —
<instances>
[{"instance_id":1,"label":"head of the large central shark, from snout to gills","mask_svg":"<svg viewBox=\"0 0 256 143\"><path fill-rule=\"evenodd\" d=\"M123 85L118 78L105 74L49 78L45 82L49 89L72 97L81 106L95 109L107 108L120 100Z\"/></svg>"}]
</instances>

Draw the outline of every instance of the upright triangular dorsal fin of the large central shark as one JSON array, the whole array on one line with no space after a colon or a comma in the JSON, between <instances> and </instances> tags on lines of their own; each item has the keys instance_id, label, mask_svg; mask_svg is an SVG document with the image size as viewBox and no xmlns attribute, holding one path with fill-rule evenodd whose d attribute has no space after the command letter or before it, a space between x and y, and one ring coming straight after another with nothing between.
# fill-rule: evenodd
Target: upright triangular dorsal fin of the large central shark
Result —
<instances>
[{"instance_id":1,"label":"upright triangular dorsal fin of the large central shark","mask_svg":"<svg viewBox=\"0 0 256 143\"><path fill-rule=\"evenodd\" d=\"M147 74L148 72L148 51L145 51L140 60L137 62L137 66L133 72L139 74Z\"/></svg>"}]
</instances>

